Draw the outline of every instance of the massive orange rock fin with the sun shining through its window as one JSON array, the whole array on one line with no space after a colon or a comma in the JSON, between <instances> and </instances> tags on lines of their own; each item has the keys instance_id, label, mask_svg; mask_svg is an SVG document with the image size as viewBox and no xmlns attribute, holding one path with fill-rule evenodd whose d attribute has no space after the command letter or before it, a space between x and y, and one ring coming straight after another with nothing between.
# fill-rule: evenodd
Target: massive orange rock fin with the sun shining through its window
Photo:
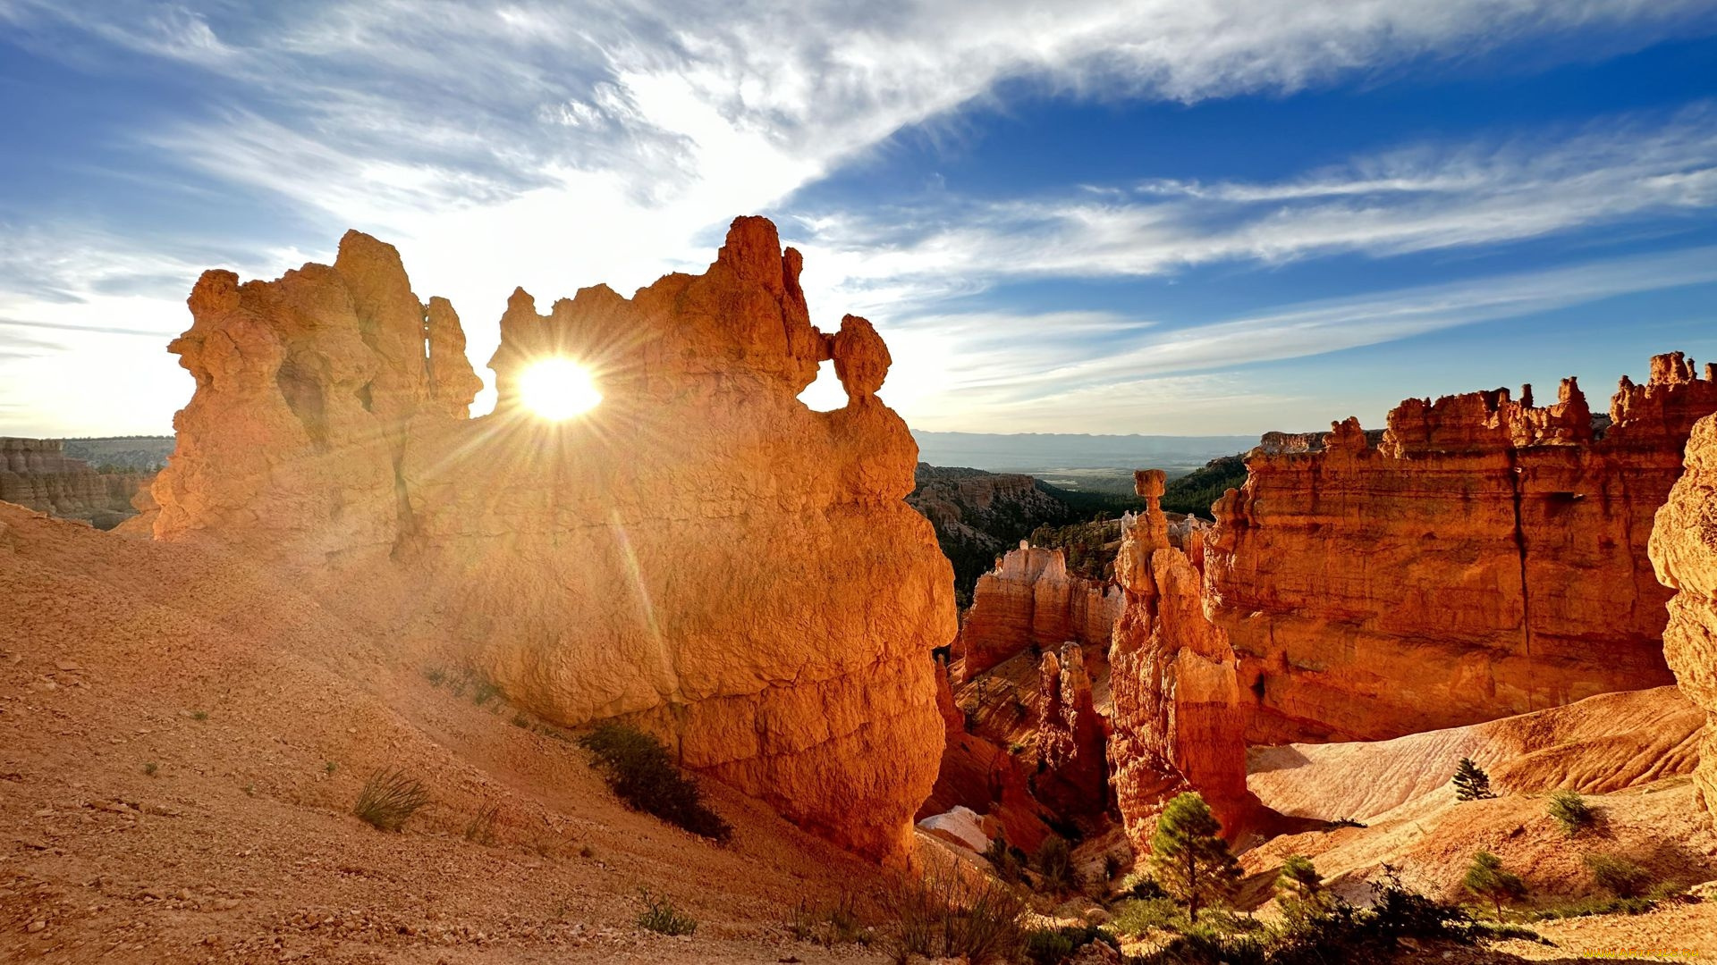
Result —
<instances>
[{"instance_id":1,"label":"massive orange rock fin with the sun shining through its window","mask_svg":"<svg viewBox=\"0 0 1717 965\"><path fill-rule=\"evenodd\" d=\"M172 345L197 391L153 532L376 586L402 635L452 637L515 702L635 719L886 855L936 778L951 570L903 503L917 446L876 398L888 349L853 316L817 331L798 268L740 218L704 275L632 299L592 287L544 316L515 292L481 419L453 307L424 306L390 246L354 232L276 282L209 271ZM524 409L549 355L594 373L596 410ZM822 361L845 409L797 400Z\"/></svg>"}]
</instances>

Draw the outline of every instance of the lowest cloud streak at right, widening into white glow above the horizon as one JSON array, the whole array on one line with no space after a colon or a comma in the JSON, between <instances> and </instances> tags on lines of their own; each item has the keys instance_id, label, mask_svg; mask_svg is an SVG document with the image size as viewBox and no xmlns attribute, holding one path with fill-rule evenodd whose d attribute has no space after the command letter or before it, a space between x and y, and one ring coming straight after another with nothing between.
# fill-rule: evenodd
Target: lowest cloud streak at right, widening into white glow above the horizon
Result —
<instances>
[{"instance_id":1,"label":"lowest cloud streak at right, widening into white glow above the horizon","mask_svg":"<svg viewBox=\"0 0 1717 965\"><path fill-rule=\"evenodd\" d=\"M1104 342L1077 328L1059 331L1042 316L977 316L979 325L1015 333L980 347L917 342L922 335L907 323L884 333L891 343L912 343L920 357L903 376L908 385L886 386L884 397L925 429L982 422L1028 431L1025 426L1059 422L1090 433L1145 431L1138 428L1145 416L1169 409L1190 414L1200 398L1229 405L1226 424L1233 426L1245 424L1248 412L1267 416L1271 405L1286 404L1271 393L1248 395L1236 374L1245 366L1712 282L1717 247L1696 247L1327 299L1202 325L1130 326L1107 318L1106 331L1121 338ZM948 326L948 319L937 325ZM1202 395L1159 395L1166 385L1200 386ZM889 395L891 388L898 395ZM951 412L958 416L950 419Z\"/></svg>"}]
</instances>

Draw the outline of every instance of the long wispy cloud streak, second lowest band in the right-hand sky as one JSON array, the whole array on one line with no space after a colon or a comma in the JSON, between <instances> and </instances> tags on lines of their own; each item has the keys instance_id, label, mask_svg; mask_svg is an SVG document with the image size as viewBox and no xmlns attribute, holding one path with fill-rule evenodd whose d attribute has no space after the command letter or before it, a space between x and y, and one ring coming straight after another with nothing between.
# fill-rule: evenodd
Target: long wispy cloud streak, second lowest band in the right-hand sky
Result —
<instances>
[{"instance_id":1,"label":"long wispy cloud streak, second lowest band in the right-hand sky","mask_svg":"<svg viewBox=\"0 0 1717 965\"><path fill-rule=\"evenodd\" d=\"M1221 261L1398 256L1717 206L1717 110L1616 117L1506 143L1425 144L1279 182L1147 182L1042 199L831 213L809 254L834 297L898 299L944 278L1168 275ZM925 225L919 228L917 225Z\"/></svg>"}]
</instances>

